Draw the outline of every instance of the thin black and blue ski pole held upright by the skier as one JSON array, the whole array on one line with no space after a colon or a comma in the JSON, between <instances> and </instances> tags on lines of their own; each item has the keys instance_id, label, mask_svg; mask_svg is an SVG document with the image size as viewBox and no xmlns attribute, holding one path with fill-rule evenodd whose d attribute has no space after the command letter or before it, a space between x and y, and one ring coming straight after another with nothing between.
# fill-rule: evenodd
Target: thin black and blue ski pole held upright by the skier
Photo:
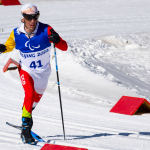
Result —
<instances>
[{"instance_id":1,"label":"thin black and blue ski pole held upright by the skier","mask_svg":"<svg viewBox=\"0 0 150 150\"><path fill-rule=\"evenodd\" d=\"M63 118L63 109L62 109L62 101L61 101L61 93L60 93L60 84L59 84L59 74L58 74L58 65L57 65L57 55L56 55L55 43L54 43L54 55L55 55L55 65L56 65L56 75L57 75L58 93L59 93L59 100L60 100L62 126L63 126L64 140L65 140L66 139L65 138L65 127L64 127L64 118Z\"/></svg>"}]
</instances>

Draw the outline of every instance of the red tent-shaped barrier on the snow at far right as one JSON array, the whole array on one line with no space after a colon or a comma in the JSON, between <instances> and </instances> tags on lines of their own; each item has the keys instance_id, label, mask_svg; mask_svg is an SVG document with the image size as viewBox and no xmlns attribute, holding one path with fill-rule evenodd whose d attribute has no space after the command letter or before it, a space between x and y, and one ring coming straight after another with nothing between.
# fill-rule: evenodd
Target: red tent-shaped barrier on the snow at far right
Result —
<instances>
[{"instance_id":1,"label":"red tent-shaped barrier on the snow at far right","mask_svg":"<svg viewBox=\"0 0 150 150\"><path fill-rule=\"evenodd\" d=\"M114 105L110 112L125 115L134 115L135 113L149 113L150 103L145 98L122 96Z\"/></svg>"}]
</instances>

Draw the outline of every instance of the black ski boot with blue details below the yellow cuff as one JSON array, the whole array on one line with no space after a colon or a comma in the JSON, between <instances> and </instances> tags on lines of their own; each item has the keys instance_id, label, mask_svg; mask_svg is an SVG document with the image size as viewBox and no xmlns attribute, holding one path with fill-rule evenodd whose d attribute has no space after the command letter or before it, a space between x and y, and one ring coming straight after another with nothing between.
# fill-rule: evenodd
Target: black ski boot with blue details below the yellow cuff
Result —
<instances>
[{"instance_id":1,"label":"black ski boot with blue details below the yellow cuff","mask_svg":"<svg viewBox=\"0 0 150 150\"><path fill-rule=\"evenodd\" d=\"M31 135L31 128L33 125L32 118L22 117L22 129L21 129L21 138L23 143L28 143L31 145L35 144L35 140Z\"/></svg>"}]
</instances>

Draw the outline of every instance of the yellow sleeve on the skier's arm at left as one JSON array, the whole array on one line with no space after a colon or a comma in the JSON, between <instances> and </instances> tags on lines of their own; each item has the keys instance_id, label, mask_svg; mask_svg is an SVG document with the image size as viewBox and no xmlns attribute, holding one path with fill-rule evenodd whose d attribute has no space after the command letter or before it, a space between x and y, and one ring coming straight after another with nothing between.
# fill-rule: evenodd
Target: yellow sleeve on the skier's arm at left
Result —
<instances>
[{"instance_id":1,"label":"yellow sleeve on the skier's arm at left","mask_svg":"<svg viewBox=\"0 0 150 150\"><path fill-rule=\"evenodd\" d=\"M15 48L16 43L14 39L15 39L15 36L14 36L14 30L13 30L5 43L7 50L4 53L11 52Z\"/></svg>"}]
</instances>

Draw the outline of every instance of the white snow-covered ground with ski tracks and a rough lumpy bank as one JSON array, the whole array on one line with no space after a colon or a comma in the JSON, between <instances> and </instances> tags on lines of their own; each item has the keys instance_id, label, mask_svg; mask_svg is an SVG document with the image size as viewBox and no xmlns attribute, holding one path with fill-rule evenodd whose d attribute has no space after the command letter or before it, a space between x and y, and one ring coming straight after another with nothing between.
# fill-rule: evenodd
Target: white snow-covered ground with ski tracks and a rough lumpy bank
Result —
<instances>
[{"instance_id":1,"label":"white snow-covered ground with ski tracks and a rough lumpy bank","mask_svg":"<svg viewBox=\"0 0 150 150\"><path fill-rule=\"evenodd\" d=\"M71 0L33 2L40 21L64 38L68 51L57 50L65 120L63 140L55 60L47 90L33 111L33 131L45 141L90 150L149 150L150 115L110 113L121 96L150 101L150 1ZM20 25L21 6L0 6L0 43ZM53 51L52 51L53 54ZM23 144L20 131L24 91L18 71L2 69L18 52L0 55L0 149L39 150Z\"/></svg>"}]
</instances>

